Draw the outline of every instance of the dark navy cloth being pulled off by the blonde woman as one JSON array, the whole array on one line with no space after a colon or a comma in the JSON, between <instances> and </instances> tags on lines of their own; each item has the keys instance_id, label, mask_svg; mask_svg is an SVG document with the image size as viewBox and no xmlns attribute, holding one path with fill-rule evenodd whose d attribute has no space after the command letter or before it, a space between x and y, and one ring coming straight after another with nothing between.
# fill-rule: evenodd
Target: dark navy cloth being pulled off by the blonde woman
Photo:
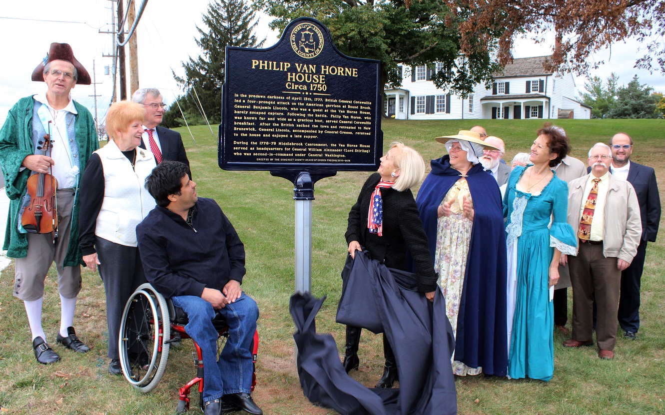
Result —
<instances>
[{"instance_id":1,"label":"dark navy cloth being pulled off by the blonde woman","mask_svg":"<svg viewBox=\"0 0 665 415\"><path fill-rule=\"evenodd\" d=\"M452 328L440 292L434 303L418 293L416 275L388 269L364 251L342 271L344 290L337 321L386 333L397 360L400 388L366 388L344 372L331 335L316 333L324 299L291 297L298 374L311 402L340 414L448 415L457 413L450 365ZM362 297L362 298L359 298Z\"/></svg>"}]
</instances>

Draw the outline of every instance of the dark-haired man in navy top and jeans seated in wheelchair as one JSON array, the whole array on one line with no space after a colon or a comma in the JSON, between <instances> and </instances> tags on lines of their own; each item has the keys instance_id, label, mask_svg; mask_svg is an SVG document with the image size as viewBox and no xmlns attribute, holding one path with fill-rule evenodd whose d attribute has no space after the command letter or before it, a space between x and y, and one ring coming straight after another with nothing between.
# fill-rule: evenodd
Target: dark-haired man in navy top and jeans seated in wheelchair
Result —
<instances>
[{"instance_id":1,"label":"dark-haired man in navy top and jeans seated in wheelchair","mask_svg":"<svg viewBox=\"0 0 665 415\"><path fill-rule=\"evenodd\" d=\"M136 227L146 279L188 314L187 332L203 354L205 415L221 414L223 402L263 414L251 397L251 342L259 308L243 293L245 248L212 199L197 198L196 183L181 162L164 161L146 178L157 202ZM219 311L229 338L217 361Z\"/></svg>"}]
</instances>

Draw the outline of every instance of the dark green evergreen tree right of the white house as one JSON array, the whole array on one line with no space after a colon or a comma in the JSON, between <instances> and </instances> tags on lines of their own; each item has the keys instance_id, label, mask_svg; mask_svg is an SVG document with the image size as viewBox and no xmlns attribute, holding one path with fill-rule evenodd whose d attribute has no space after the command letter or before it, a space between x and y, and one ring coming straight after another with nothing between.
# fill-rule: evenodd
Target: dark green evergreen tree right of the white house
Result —
<instances>
[{"instance_id":1,"label":"dark green evergreen tree right of the white house","mask_svg":"<svg viewBox=\"0 0 665 415\"><path fill-rule=\"evenodd\" d=\"M616 91L616 106L610 111L610 118L657 118L658 97L651 94L653 89L633 76L627 86Z\"/></svg>"}]
</instances>

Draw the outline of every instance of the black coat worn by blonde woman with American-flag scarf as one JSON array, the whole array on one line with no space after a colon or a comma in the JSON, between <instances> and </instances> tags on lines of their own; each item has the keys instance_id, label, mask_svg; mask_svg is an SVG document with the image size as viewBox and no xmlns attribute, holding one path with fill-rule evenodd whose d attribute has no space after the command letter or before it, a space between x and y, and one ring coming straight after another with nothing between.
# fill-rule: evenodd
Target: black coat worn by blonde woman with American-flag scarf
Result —
<instances>
[{"instance_id":1,"label":"black coat worn by blonde woman with American-flag scarf","mask_svg":"<svg viewBox=\"0 0 665 415\"><path fill-rule=\"evenodd\" d=\"M388 268L407 270L406 253L410 252L418 275L418 291L430 293L436 289L436 273L428 248L427 235L410 190L398 192L392 188L381 189L383 200L383 235L370 233L367 217L370 198L381 180L372 174L360 190L358 201L348 213L346 243L358 241L380 263ZM410 267L409 267L410 271Z\"/></svg>"}]
</instances>

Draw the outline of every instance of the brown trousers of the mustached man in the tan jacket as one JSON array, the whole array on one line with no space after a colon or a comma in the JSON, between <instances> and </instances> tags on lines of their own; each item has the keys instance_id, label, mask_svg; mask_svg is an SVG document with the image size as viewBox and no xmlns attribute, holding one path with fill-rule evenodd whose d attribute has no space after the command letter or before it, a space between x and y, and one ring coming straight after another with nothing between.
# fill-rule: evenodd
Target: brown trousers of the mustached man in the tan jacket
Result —
<instances>
[{"instance_id":1,"label":"brown trousers of the mustached man in the tan jacket","mask_svg":"<svg viewBox=\"0 0 665 415\"><path fill-rule=\"evenodd\" d=\"M616 257L602 255L602 244L579 241L577 257L568 261L573 283L573 340L593 339L593 299L598 308L596 341L602 350L614 350L616 312L619 307L621 271Z\"/></svg>"}]
</instances>

